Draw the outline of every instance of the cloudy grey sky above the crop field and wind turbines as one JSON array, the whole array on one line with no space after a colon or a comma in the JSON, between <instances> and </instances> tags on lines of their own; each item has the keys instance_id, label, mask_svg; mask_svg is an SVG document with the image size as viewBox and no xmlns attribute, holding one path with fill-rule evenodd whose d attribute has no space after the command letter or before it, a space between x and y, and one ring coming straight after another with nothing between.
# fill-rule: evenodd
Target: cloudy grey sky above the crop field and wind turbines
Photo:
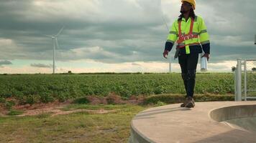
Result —
<instances>
[{"instance_id":1,"label":"cloudy grey sky above the crop field and wind turbines","mask_svg":"<svg viewBox=\"0 0 256 143\"><path fill-rule=\"evenodd\" d=\"M231 71L237 58L256 59L255 0L196 2L211 39L209 71ZM163 18L170 26L179 9L179 0L1 0L0 74L51 73L52 39L45 35L63 26L58 73L167 72ZM180 71L173 53L173 71Z\"/></svg>"}]
</instances>

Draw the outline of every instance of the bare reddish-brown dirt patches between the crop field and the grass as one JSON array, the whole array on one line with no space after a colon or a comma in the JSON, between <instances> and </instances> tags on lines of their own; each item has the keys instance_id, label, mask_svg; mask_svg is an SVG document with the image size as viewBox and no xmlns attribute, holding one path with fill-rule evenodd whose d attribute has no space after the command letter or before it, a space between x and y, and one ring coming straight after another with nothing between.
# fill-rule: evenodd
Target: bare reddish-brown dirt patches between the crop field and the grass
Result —
<instances>
[{"instance_id":1,"label":"bare reddish-brown dirt patches between the crop field and the grass","mask_svg":"<svg viewBox=\"0 0 256 143\"><path fill-rule=\"evenodd\" d=\"M132 96L128 100L122 100L121 97L118 95L111 93L107 97L96 97L96 96L88 96L84 97L88 99L88 104L140 104L144 101L144 96ZM72 100L68 100L66 102L51 102L47 104L24 104L24 105L15 105L12 107L14 110L24 111L23 114L17 115L17 117L24 117L24 116L35 116L38 114L51 114L51 117L60 114L70 114L76 112L89 112L95 114L106 114L109 112L115 112L115 110L89 110L89 109L73 109L69 111L63 111L63 107L67 106L68 104L73 103ZM1 106L0 104L0 117L6 117L8 114L8 110Z\"/></svg>"}]
</instances>

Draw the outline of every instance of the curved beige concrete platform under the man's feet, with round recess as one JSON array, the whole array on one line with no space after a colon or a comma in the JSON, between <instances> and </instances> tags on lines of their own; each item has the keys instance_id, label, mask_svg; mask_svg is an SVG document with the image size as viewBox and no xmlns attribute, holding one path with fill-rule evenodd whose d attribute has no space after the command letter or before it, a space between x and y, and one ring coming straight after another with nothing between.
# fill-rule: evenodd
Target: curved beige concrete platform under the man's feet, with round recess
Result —
<instances>
[{"instance_id":1,"label":"curved beige concrete platform under the man's feet, with round recess","mask_svg":"<svg viewBox=\"0 0 256 143\"><path fill-rule=\"evenodd\" d=\"M130 143L256 142L256 102L198 102L155 107L132 119Z\"/></svg>"}]
</instances>

